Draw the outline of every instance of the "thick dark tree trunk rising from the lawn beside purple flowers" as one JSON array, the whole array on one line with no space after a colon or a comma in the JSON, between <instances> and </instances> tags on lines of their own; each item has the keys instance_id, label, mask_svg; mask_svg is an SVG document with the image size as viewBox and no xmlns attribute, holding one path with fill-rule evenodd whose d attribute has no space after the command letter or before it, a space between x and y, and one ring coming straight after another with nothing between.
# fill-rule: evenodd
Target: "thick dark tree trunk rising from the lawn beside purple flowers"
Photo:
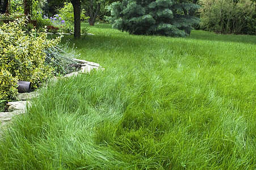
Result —
<instances>
[{"instance_id":1,"label":"thick dark tree trunk rising from the lawn beside purple flowers","mask_svg":"<svg viewBox=\"0 0 256 170\"><path fill-rule=\"evenodd\" d=\"M74 8L74 39L81 37L81 1L71 1Z\"/></svg>"}]
</instances>

